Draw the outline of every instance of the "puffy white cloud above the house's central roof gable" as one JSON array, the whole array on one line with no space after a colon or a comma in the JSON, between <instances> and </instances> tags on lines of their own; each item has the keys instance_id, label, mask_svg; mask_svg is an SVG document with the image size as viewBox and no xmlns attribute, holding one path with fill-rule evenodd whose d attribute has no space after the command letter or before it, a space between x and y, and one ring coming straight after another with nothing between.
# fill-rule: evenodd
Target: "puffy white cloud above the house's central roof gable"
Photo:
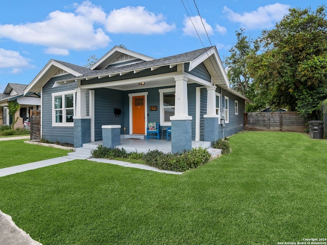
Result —
<instances>
[{"instance_id":1,"label":"puffy white cloud above the house's central roof gable","mask_svg":"<svg viewBox=\"0 0 327 245\"><path fill-rule=\"evenodd\" d=\"M155 15L142 6L114 9L106 22L110 33L161 34L173 29L175 24L168 24L162 14Z\"/></svg>"}]
</instances>

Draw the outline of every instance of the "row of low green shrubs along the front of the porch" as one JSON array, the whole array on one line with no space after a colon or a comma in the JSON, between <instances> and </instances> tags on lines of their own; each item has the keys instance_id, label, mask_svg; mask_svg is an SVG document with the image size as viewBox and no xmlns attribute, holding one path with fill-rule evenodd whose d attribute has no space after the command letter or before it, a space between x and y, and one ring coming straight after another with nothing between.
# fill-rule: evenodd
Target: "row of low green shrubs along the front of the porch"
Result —
<instances>
[{"instance_id":1,"label":"row of low green shrubs along the front of the porch","mask_svg":"<svg viewBox=\"0 0 327 245\"><path fill-rule=\"evenodd\" d=\"M147 153L131 152L127 153L124 149L106 148L99 145L97 149L92 150L92 156L95 158L126 158L141 159L146 164L157 167L162 170L186 171L194 169L208 162L211 155L206 149L197 148L181 154L163 153L158 150L148 151Z\"/></svg>"}]
</instances>

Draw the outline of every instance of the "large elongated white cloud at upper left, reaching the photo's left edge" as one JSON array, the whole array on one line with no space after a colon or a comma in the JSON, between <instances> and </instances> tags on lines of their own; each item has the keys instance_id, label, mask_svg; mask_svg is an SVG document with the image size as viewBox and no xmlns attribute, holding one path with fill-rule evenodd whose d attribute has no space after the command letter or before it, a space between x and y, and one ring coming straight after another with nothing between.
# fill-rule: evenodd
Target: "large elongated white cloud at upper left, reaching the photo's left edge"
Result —
<instances>
[{"instance_id":1,"label":"large elongated white cloud at upper left, reaching the photo's left edge","mask_svg":"<svg viewBox=\"0 0 327 245\"><path fill-rule=\"evenodd\" d=\"M0 25L0 38L72 50L95 50L110 42L102 29L93 28L89 19L61 11L50 13L43 22Z\"/></svg>"}]
</instances>

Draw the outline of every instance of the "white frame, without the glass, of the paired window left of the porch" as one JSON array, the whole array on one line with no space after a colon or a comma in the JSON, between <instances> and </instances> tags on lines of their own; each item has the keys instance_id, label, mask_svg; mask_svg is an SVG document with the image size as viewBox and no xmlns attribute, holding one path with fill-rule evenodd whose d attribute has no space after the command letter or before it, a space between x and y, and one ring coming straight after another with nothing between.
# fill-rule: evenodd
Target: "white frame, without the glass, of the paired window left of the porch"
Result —
<instances>
[{"instance_id":1,"label":"white frame, without the glass, of the paired window left of the porch","mask_svg":"<svg viewBox=\"0 0 327 245\"><path fill-rule=\"evenodd\" d=\"M69 90L69 91L63 91L58 93L52 93L52 127L74 127L74 122L64 122L64 119L66 118L66 110L64 108L64 102L65 102L65 95L67 94L73 94L73 110L74 110L74 116L76 116L76 91L75 90ZM56 96L62 96L62 120L63 122L56 122L56 110L55 110L55 97Z\"/></svg>"}]
</instances>

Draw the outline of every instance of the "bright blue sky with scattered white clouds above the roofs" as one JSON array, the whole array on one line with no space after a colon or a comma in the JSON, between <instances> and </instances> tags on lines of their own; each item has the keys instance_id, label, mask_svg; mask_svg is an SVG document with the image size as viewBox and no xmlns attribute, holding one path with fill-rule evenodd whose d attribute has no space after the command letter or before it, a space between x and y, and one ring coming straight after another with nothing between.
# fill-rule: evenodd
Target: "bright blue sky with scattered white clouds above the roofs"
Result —
<instances>
[{"instance_id":1,"label":"bright blue sky with scattered white clouds above the roofs","mask_svg":"<svg viewBox=\"0 0 327 245\"><path fill-rule=\"evenodd\" d=\"M256 38L289 8L320 5L316 0L3 1L0 92L8 83L29 84L50 59L84 66L90 56L100 59L120 44L153 58L216 45L223 61L240 28Z\"/></svg>"}]
</instances>

